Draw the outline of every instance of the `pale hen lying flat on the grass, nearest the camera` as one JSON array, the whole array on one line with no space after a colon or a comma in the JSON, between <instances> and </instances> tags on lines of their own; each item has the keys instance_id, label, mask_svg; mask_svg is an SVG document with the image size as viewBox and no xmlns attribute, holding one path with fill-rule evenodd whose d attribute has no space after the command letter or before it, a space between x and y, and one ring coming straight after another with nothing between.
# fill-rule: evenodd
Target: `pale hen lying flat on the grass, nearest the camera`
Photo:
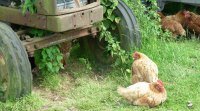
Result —
<instances>
[{"instance_id":1,"label":"pale hen lying flat on the grass, nearest the camera","mask_svg":"<svg viewBox=\"0 0 200 111\"><path fill-rule=\"evenodd\" d=\"M118 87L118 93L133 105L155 107L167 99L167 92L161 80L138 82L127 88Z\"/></svg>"}]
</instances>

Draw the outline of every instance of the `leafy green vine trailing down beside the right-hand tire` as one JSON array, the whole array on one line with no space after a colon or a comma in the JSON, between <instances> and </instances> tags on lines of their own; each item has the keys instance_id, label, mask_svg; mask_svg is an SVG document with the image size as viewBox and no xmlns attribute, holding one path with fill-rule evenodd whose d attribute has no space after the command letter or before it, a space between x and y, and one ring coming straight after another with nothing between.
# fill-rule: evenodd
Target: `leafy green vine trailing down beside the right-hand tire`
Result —
<instances>
[{"instance_id":1,"label":"leafy green vine trailing down beside the right-hand tire","mask_svg":"<svg viewBox=\"0 0 200 111\"><path fill-rule=\"evenodd\" d=\"M108 45L106 46L107 52L112 56L116 56L116 61L114 66L118 66L121 63L126 63L129 56L126 51L121 49L120 42L116 40L111 31L114 31L117 24L120 22L120 17L114 14L114 10L118 5L117 0L101 0L101 5L104 7L104 20L99 24L100 27L100 38L101 41L104 39Z\"/></svg>"}]
</instances>

